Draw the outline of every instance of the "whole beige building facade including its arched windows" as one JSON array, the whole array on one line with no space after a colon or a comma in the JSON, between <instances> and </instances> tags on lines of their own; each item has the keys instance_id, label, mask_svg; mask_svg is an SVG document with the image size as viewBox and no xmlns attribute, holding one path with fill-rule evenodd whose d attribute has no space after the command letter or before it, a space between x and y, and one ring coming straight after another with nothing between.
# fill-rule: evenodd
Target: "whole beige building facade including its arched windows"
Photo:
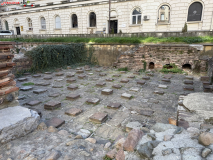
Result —
<instances>
[{"instance_id":1,"label":"whole beige building facade including its arched windows","mask_svg":"<svg viewBox=\"0 0 213 160\"><path fill-rule=\"evenodd\" d=\"M2 28L15 34L108 33L109 1L31 1L33 7L5 6ZM5 9L9 8L9 9ZM212 31L213 0L111 1L113 33Z\"/></svg>"}]
</instances>

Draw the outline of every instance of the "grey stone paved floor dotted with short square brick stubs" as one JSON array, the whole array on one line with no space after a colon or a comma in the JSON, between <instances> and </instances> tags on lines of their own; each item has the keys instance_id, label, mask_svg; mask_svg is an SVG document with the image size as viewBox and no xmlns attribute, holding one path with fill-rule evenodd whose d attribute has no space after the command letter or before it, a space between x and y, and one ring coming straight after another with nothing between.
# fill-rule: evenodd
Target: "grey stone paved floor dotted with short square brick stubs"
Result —
<instances>
[{"instance_id":1,"label":"grey stone paved floor dotted with short square brick stubs","mask_svg":"<svg viewBox=\"0 0 213 160\"><path fill-rule=\"evenodd\" d=\"M85 77L81 75L85 75ZM131 71L122 73L117 69L102 67L91 68L90 71L86 71L82 67L81 69L67 69L50 74L38 74L37 76L23 76L22 78L27 78L27 80L17 81L17 86L27 91L20 90L20 105L41 112L41 122L47 123L53 117L65 120L65 124L60 126L58 130L66 132L51 133L47 130L36 130L26 137L1 146L0 159L2 156L3 159L11 157L12 159L22 160L26 157L29 159L29 156L31 156L39 160L44 159L53 150L61 152L59 160L102 159L107 153L107 150L104 150L104 145L107 142L113 143L118 136L126 136L128 134L126 125L128 123L139 122L141 129L144 132L149 132L149 128L156 122L168 123L169 117L176 116L180 95L202 92L202 85L198 78L194 78L193 85L188 85L193 86L194 91L185 91L183 89L185 77L185 75L161 73L154 73L153 76L148 76L146 73L137 75ZM111 78L114 80L109 81ZM162 81L165 78L171 78L170 82ZM128 83L121 82L127 82L127 80L129 80ZM141 83L145 81L145 84L138 84L139 81ZM23 86L23 84L29 82L34 83L34 85L30 85L31 89ZM113 88L113 85L117 87L121 85L121 88ZM162 88L159 88L159 85L163 85ZM102 94L104 89L112 89L113 93ZM124 93L130 94L130 99L122 97ZM74 99L68 99L68 95L71 96L71 99L74 96ZM89 104L87 102L87 100L93 98L99 99L99 103ZM61 107L54 110L44 109L44 104L52 101L60 102ZM30 106L29 103L34 106ZM120 103L121 107L118 109L108 108L107 106L110 103ZM76 111L76 109L81 109L81 112L77 116L65 114L71 108L75 108L71 112ZM100 122L101 124L94 123L89 119L97 112L96 121L103 120L102 123ZM107 118L106 116L101 117L103 114L100 113L107 114ZM100 120L99 118L103 119ZM89 143L84 139L74 139L80 129L90 131L90 137L97 140L96 144ZM71 145L66 145L68 142L71 142Z\"/></svg>"}]
</instances>

